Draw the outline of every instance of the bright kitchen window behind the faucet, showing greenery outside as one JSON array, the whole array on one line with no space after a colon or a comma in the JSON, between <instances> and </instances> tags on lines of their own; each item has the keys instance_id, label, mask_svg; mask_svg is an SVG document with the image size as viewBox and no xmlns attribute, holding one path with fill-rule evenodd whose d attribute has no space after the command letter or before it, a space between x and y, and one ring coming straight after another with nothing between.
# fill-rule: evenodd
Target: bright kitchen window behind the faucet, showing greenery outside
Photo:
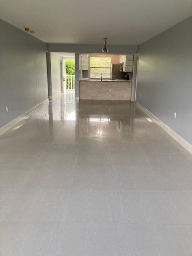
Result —
<instances>
[{"instance_id":1,"label":"bright kitchen window behind the faucet, showing greenery outside","mask_svg":"<svg viewBox=\"0 0 192 256\"><path fill-rule=\"evenodd\" d=\"M90 57L90 78L110 79L111 58L110 57Z\"/></svg>"}]
</instances>

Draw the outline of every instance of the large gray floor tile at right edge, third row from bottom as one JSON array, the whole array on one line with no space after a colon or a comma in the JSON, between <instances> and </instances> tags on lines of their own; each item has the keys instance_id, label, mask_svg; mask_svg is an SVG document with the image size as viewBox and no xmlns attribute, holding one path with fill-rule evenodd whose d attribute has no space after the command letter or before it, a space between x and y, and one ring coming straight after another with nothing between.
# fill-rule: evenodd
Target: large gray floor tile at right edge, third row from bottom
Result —
<instances>
[{"instance_id":1,"label":"large gray floor tile at right edge, third row from bottom","mask_svg":"<svg viewBox=\"0 0 192 256\"><path fill-rule=\"evenodd\" d=\"M110 178L117 189L192 189L192 171L188 168L147 168L135 170L118 166L110 170Z\"/></svg>"}]
</instances>

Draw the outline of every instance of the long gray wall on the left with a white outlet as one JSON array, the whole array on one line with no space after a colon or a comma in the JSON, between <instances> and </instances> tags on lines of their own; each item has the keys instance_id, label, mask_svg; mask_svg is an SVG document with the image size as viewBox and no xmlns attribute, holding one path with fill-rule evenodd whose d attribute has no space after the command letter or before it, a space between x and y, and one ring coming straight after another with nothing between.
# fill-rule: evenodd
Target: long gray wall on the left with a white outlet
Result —
<instances>
[{"instance_id":1,"label":"long gray wall on the left with a white outlet","mask_svg":"<svg viewBox=\"0 0 192 256\"><path fill-rule=\"evenodd\" d=\"M47 44L3 20L0 31L1 127L46 100L48 87Z\"/></svg>"}]
</instances>

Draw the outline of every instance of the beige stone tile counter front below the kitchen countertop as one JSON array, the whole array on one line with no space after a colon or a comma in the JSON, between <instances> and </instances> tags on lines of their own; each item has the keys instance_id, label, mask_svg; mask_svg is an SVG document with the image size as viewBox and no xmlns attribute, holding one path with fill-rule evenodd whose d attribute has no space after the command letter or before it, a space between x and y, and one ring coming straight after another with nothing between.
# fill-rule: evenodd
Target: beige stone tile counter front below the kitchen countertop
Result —
<instances>
[{"instance_id":1,"label":"beige stone tile counter front below the kitchen countertop","mask_svg":"<svg viewBox=\"0 0 192 256\"><path fill-rule=\"evenodd\" d=\"M80 100L131 100L132 82L80 80L79 90Z\"/></svg>"}]
</instances>

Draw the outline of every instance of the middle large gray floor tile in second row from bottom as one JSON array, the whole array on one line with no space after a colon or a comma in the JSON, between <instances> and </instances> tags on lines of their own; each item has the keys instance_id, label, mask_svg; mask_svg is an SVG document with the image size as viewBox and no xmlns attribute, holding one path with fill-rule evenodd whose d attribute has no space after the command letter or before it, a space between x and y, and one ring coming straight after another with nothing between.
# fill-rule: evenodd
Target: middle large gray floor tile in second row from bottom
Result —
<instances>
[{"instance_id":1,"label":"middle large gray floor tile in second row from bottom","mask_svg":"<svg viewBox=\"0 0 192 256\"><path fill-rule=\"evenodd\" d=\"M116 222L116 190L70 190L63 222Z\"/></svg>"}]
</instances>

